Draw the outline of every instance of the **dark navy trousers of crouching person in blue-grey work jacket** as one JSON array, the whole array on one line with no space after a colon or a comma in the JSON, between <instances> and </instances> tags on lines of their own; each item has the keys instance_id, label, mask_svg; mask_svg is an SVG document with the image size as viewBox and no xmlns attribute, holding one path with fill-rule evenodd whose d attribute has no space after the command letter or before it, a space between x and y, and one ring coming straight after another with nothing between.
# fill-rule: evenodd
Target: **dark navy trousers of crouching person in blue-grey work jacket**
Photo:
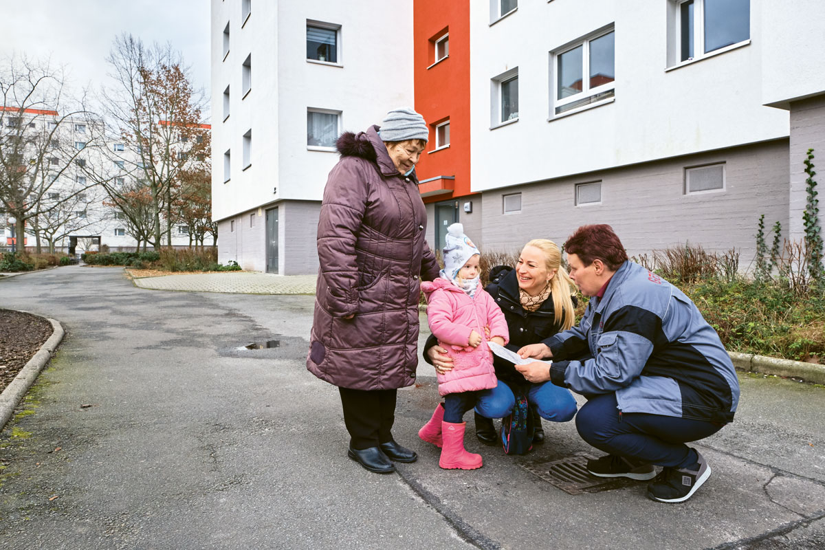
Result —
<instances>
[{"instance_id":1,"label":"dark navy trousers of crouching person in blue-grey work jacket","mask_svg":"<svg viewBox=\"0 0 825 550\"><path fill-rule=\"evenodd\" d=\"M715 434L722 425L678 416L625 412L615 393L592 396L576 416L582 439L609 454L639 458L670 468L691 468L695 451L685 443Z\"/></svg>"}]
</instances>

